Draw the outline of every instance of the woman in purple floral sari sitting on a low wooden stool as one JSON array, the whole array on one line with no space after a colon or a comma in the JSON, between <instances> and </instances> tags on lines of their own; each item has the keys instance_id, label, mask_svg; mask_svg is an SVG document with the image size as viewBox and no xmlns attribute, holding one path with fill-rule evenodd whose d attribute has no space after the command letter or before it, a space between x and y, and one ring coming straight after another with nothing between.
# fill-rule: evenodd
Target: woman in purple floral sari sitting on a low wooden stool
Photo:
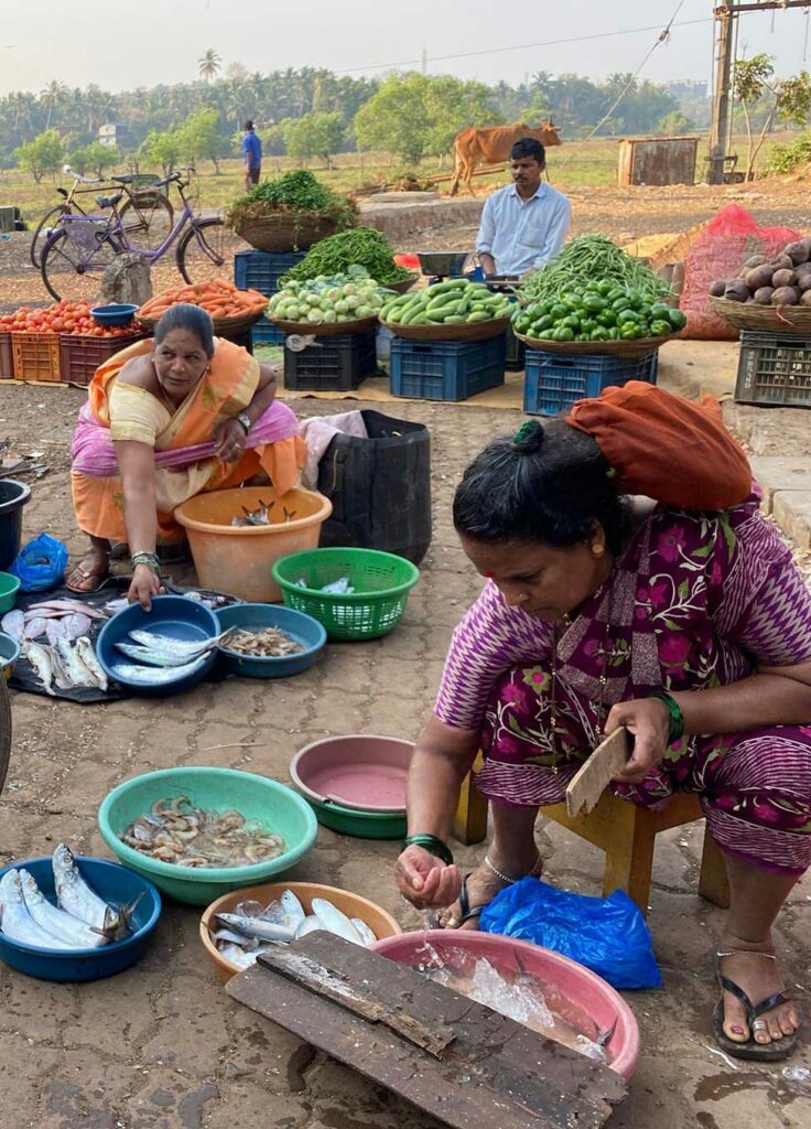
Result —
<instances>
[{"instance_id":1,"label":"woman in purple floral sari sitting on a low wooden stool","mask_svg":"<svg viewBox=\"0 0 811 1129\"><path fill-rule=\"evenodd\" d=\"M417 743L398 885L444 908L443 927L475 928L505 884L539 873L538 808L625 725L634 750L614 793L644 806L697 793L725 857L716 1036L740 1057L785 1057L799 1018L770 928L811 864L811 594L756 495L723 513L641 513L615 483L563 420L524 425L466 471L455 525L488 583ZM479 747L494 835L462 881L446 840Z\"/></svg>"}]
</instances>

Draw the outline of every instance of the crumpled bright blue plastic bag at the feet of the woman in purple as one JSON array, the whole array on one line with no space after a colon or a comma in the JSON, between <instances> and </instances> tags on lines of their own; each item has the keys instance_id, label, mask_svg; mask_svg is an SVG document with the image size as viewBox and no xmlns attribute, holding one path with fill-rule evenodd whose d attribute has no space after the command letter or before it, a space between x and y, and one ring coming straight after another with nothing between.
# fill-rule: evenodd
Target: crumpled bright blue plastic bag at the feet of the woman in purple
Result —
<instances>
[{"instance_id":1,"label":"crumpled bright blue plastic bag at the feet of the woman in purple","mask_svg":"<svg viewBox=\"0 0 811 1129\"><path fill-rule=\"evenodd\" d=\"M622 890L589 898L522 878L496 894L479 919L485 933L531 940L597 972L615 988L661 988L651 930Z\"/></svg>"}]
</instances>

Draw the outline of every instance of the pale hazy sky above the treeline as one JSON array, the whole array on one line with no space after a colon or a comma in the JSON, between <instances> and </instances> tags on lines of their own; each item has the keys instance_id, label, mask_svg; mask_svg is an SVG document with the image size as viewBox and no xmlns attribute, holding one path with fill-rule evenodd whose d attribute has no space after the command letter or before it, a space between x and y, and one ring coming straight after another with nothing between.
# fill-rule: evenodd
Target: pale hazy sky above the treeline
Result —
<instances>
[{"instance_id":1,"label":"pale hazy sky above the treeline","mask_svg":"<svg viewBox=\"0 0 811 1129\"><path fill-rule=\"evenodd\" d=\"M635 71L678 8L670 42L642 79L709 77L715 0L0 0L0 94L58 79L117 91L197 77L213 47L249 71L326 67L352 75L418 69L485 82L544 70L603 78ZM125 21L121 14L131 7ZM805 62L802 9L740 17L739 54L774 54L781 75ZM646 30L635 30L646 28ZM625 33L633 34L608 34ZM591 37L590 37L591 36ZM599 37L598 37L599 36ZM571 42L571 41L579 42ZM552 42L558 41L558 42ZM570 42L559 42L570 41ZM512 50L518 49L518 50ZM443 58L449 55L462 58Z\"/></svg>"}]
</instances>

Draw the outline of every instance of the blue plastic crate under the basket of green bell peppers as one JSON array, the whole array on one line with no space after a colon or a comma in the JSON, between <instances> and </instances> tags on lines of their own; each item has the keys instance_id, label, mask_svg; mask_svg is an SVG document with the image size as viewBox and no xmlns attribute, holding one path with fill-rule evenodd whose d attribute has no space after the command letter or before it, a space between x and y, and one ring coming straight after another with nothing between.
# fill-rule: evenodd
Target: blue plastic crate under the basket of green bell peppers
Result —
<instances>
[{"instance_id":1,"label":"blue plastic crate under the basket of green bell peppers","mask_svg":"<svg viewBox=\"0 0 811 1129\"><path fill-rule=\"evenodd\" d=\"M578 400L599 396L603 388L628 380L656 383L659 350L644 357L565 356L528 349L524 365L523 411L527 415L557 415Z\"/></svg>"}]
</instances>

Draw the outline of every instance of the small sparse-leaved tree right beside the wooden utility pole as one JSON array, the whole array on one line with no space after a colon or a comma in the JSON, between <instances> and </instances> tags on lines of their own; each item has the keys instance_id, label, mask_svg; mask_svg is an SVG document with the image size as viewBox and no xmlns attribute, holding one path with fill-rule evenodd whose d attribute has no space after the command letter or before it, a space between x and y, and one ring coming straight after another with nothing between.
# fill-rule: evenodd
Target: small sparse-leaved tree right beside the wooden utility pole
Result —
<instances>
[{"instance_id":1,"label":"small sparse-leaved tree right beside the wooden utility pole","mask_svg":"<svg viewBox=\"0 0 811 1129\"><path fill-rule=\"evenodd\" d=\"M743 111L747 126L748 181L755 175L755 161L774 123L783 121L792 125L804 125L811 114L811 75L808 71L800 71L793 78L775 79L774 64L773 55L753 55L751 59L739 59L732 73L733 90ZM768 110L760 132L756 133L752 111L765 106L768 106Z\"/></svg>"}]
</instances>

